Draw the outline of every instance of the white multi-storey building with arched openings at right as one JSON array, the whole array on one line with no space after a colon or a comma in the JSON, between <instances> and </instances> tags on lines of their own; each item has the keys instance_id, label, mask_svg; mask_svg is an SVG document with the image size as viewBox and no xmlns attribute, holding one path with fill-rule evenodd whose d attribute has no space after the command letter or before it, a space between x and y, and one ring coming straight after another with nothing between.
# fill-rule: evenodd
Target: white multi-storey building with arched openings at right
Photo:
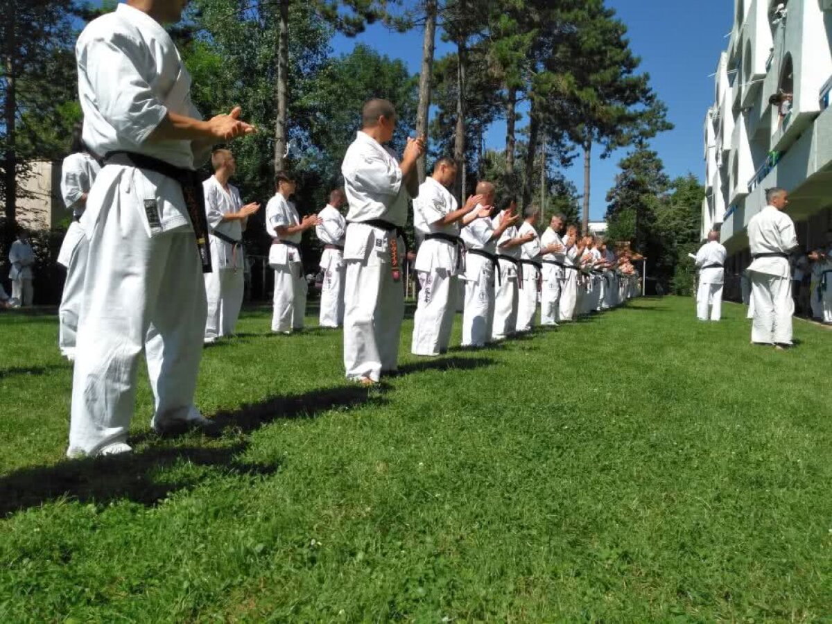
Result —
<instances>
[{"instance_id":1,"label":"white multi-storey building with arched openings at right","mask_svg":"<svg viewBox=\"0 0 832 624\"><path fill-rule=\"evenodd\" d=\"M802 245L832 228L832 0L734 2L705 120L702 204L702 237L719 229L728 250L730 290L750 264L746 227L766 188L790 192Z\"/></svg>"}]
</instances>

